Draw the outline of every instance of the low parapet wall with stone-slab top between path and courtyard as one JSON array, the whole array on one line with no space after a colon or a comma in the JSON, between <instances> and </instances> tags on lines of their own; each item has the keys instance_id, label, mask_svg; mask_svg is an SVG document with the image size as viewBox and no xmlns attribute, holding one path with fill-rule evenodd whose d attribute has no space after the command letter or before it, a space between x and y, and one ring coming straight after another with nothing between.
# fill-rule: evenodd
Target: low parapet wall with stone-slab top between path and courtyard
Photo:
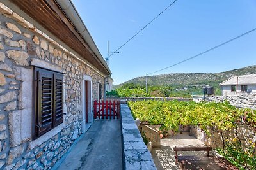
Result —
<instances>
[{"instance_id":1,"label":"low parapet wall with stone-slab top between path and courtyard","mask_svg":"<svg viewBox=\"0 0 256 170\"><path fill-rule=\"evenodd\" d=\"M127 104L121 104L124 169L155 169L156 166Z\"/></svg>"}]
</instances>

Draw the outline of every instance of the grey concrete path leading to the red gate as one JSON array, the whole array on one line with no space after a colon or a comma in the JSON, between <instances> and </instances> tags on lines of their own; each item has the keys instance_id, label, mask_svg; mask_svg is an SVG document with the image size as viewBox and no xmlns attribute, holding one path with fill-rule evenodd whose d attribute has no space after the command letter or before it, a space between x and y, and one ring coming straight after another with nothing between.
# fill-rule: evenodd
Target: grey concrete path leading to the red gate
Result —
<instances>
[{"instance_id":1,"label":"grey concrete path leading to the red gate","mask_svg":"<svg viewBox=\"0 0 256 170\"><path fill-rule=\"evenodd\" d=\"M58 169L122 169L120 120L95 120Z\"/></svg>"}]
</instances>

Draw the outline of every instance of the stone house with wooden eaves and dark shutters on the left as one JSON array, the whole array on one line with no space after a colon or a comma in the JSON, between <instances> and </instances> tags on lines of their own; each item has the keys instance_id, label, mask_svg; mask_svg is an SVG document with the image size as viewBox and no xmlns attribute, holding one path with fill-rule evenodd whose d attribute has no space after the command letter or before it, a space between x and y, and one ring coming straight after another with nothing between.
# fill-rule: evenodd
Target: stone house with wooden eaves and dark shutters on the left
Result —
<instances>
[{"instance_id":1,"label":"stone house with wooden eaves and dark shutters on the left","mask_svg":"<svg viewBox=\"0 0 256 170\"><path fill-rule=\"evenodd\" d=\"M0 169L50 169L111 71L69 0L0 0Z\"/></svg>"}]
</instances>

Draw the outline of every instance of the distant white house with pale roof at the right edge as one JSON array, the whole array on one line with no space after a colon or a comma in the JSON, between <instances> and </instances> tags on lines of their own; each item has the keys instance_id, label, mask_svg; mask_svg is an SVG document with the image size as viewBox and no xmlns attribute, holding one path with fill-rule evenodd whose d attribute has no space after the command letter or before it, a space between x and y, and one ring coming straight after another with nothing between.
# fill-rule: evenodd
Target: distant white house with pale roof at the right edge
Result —
<instances>
[{"instance_id":1,"label":"distant white house with pale roof at the right edge","mask_svg":"<svg viewBox=\"0 0 256 170\"><path fill-rule=\"evenodd\" d=\"M256 74L232 76L220 83L222 95L229 96L252 91L256 92Z\"/></svg>"}]
</instances>

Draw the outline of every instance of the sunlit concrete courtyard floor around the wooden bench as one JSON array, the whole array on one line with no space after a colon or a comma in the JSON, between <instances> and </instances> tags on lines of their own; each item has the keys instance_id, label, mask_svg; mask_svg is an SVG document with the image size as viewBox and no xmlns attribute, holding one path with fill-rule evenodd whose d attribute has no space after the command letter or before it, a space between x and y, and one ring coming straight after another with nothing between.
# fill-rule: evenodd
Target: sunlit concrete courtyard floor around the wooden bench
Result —
<instances>
[{"instance_id":1,"label":"sunlit concrete courtyard floor around the wooden bench","mask_svg":"<svg viewBox=\"0 0 256 170\"><path fill-rule=\"evenodd\" d=\"M193 136L189 136L189 133L177 134L170 136L169 138L161 139L160 148L152 148L152 157L156 164L157 170L166 169L180 169L179 164L175 164L175 152L173 147L184 146L205 146L202 141L196 139ZM190 151L190 152L178 152L179 155L206 155L206 152L202 151Z\"/></svg>"}]
</instances>

